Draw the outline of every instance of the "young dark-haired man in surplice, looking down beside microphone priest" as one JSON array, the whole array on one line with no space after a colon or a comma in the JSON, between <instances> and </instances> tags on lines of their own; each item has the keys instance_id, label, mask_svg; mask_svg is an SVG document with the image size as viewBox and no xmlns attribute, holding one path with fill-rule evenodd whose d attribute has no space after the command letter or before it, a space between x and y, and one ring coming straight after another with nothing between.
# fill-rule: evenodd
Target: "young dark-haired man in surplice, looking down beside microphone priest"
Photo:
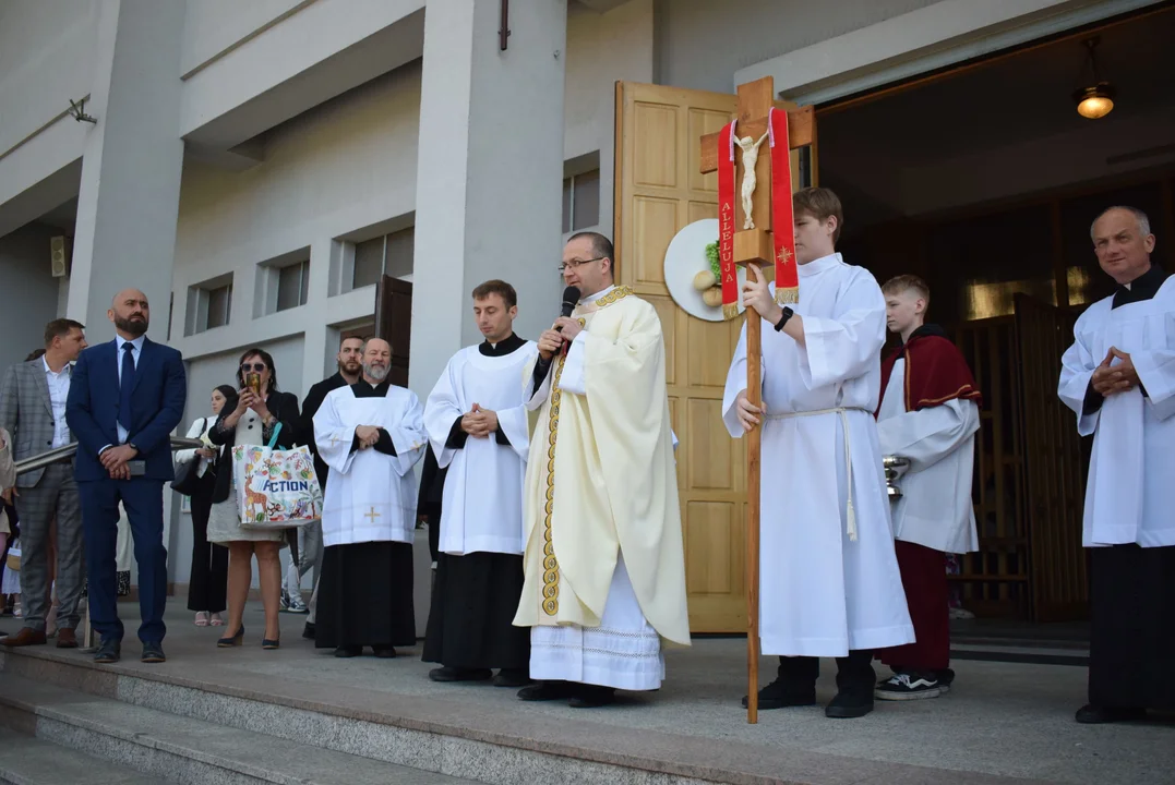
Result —
<instances>
[{"instance_id":1,"label":"young dark-haired man in surplice, looking down beside microphone priest","mask_svg":"<svg viewBox=\"0 0 1175 785\"><path fill-rule=\"evenodd\" d=\"M449 360L424 405L437 469L445 472L423 657L442 664L429 672L435 682L529 681L530 634L513 625L530 445L518 380L538 347L515 334L517 313L510 284L488 280L475 289L474 317L485 340Z\"/></svg>"}]
</instances>

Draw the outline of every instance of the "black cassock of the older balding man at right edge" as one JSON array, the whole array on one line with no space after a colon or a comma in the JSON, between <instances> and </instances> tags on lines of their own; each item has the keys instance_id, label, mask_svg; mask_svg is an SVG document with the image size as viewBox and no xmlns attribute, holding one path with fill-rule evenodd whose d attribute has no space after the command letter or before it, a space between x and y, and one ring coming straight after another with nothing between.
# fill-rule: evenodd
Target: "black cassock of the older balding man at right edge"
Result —
<instances>
[{"instance_id":1,"label":"black cassock of the older balding man at right edge","mask_svg":"<svg viewBox=\"0 0 1175 785\"><path fill-rule=\"evenodd\" d=\"M1152 266L1112 307L1153 299L1166 279ZM1086 413L1101 401L1090 386ZM1175 711L1175 546L1090 548L1089 561L1090 705Z\"/></svg>"}]
</instances>

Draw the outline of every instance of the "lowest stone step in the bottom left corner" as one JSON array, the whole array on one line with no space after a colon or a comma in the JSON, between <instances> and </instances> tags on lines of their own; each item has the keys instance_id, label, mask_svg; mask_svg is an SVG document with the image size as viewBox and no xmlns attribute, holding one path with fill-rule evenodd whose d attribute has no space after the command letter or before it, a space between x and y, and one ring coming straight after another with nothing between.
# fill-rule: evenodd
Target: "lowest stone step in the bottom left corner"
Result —
<instances>
[{"instance_id":1,"label":"lowest stone step in the bottom left corner","mask_svg":"<svg viewBox=\"0 0 1175 785\"><path fill-rule=\"evenodd\" d=\"M0 783L4 785L170 785L92 754L0 730Z\"/></svg>"}]
</instances>

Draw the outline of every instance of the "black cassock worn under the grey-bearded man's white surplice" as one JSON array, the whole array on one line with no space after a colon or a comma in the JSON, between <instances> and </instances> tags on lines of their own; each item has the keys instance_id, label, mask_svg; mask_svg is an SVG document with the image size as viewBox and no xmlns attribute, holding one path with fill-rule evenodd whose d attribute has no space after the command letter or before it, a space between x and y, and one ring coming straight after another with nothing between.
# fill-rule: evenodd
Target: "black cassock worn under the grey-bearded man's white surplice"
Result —
<instances>
[{"instance_id":1,"label":"black cassock worn under the grey-bearded man's white surplice","mask_svg":"<svg viewBox=\"0 0 1175 785\"><path fill-rule=\"evenodd\" d=\"M351 385L356 398L383 398L388 383ZM358 440L351 449L358 448ZM387 432L372 447L395 455ZM416 644L412 607L412 546L407 542L357 542L330 546L322 554L314 645L410 647Z\"/></svg>"}]
</instances>

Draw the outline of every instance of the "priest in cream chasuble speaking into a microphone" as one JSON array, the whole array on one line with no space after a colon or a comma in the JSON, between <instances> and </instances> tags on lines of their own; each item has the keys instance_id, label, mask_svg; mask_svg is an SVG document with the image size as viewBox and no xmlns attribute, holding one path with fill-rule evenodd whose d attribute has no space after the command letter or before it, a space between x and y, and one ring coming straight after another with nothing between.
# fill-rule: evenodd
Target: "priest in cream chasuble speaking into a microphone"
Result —
<instances>
[{"instance_id":1,"label":"priest in cream chasuble speaking into a microphone","mask_svg":"<svg viewBox=\"0 0 1175 785\"><path fill-rule=\"evenodd\" d=\"M524 378L535 417L515 624L531 628L543 683L519 697L593 706L659 688L662 644L689 645L690 627L660 320L612 285L605 237L572 237L563 262L585 295Z\"/></svg>"}]
</instances>

